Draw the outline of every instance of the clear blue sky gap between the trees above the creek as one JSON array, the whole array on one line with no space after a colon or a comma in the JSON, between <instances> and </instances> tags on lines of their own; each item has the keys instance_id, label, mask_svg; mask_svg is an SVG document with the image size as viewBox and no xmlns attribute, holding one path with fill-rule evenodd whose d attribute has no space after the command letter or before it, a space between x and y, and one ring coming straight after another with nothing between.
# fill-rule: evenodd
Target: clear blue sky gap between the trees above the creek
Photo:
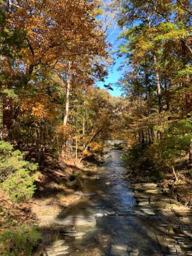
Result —
<instances>
[{"instance_id":1,"label":"clear blue sky gap between the trees above the creek","mask_svg":"<svg viewBox=\"0 0 192 256\"><path fill-rule=\"evenodd\" d=\"M111 28L108 30L108 41L112 43L113 45L113 51L118 48L119 42L116 40L116 38L119 36L119 33L121 30L119 27L116 28ZM121 72L117 71L118 67L120 66L121 62L123 61L123 58L117 58L117 55L115 53L112 54L112 57L114 58L115 65L113 66L112 70L109 70L108 78L105 79L105 82L98 82L97 85L100 88L104 88L104 84L109 84L109 83L116 83L118 79L121 76ZM113 96L121 96L121 91L120 88L117 88L113 86L113 91L108 90L109 93Z\"/></svg>"}]
</instances>

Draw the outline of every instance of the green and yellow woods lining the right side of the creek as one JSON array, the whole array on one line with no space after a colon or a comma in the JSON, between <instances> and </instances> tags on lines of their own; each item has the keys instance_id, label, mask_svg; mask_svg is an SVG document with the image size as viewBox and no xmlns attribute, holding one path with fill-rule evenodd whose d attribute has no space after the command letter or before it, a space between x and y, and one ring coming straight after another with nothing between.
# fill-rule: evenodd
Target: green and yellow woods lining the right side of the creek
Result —
<instances>
[{"instance_id":1,"label":"green and yellow woods lining the right side of the creek","mask_svg":"<svg viewBox=\"0 0 192 256\"><path fill-rule=\"evenodd\" d=\"M190 1L123 1L124 27L118 81L125 96L125 160L134 171L173 170L178 157L192 160ZM135 160L139 160L137 165ZM146 169L146 170L145 170Z\"/></svg>"}]
</instances>

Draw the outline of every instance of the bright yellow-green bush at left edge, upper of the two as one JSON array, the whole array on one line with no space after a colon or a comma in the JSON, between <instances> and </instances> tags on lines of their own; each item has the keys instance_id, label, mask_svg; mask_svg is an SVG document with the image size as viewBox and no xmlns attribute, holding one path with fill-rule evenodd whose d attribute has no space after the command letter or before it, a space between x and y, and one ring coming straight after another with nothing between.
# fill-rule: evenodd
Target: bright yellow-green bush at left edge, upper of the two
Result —
<instances>
[{"instance_id":1,"label":"bright yellow-green bush at left edge, upper of the two","mask_svg":"<svg viewBox=\"0 0 192 256\"><path fill-rule=\"evenodd\" d=\"M38 165L23 157L24 153L13 150L13 145L0 141L0 186L17 203L30 199L35 192L35 176L31 172Z\"/></svg>"}]
</instances>

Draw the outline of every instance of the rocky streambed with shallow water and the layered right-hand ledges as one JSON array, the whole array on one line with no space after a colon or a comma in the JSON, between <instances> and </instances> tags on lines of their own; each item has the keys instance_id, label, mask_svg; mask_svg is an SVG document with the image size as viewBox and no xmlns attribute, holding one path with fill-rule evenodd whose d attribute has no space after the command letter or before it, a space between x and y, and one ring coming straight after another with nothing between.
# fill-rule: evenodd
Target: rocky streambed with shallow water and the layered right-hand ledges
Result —
<instances>
[{"instance_id":1,"label":"rocky streambed with shallow water and the layered right-hand ledges","mask_svg":"<svg viewBox=\"0 0 192 256\"><path fill-rule=\"evenodd\" d=\"M106 152L104 163L82 181L79 200L41 220L58 234L43 256L192 255L190 209L157 184L130 183L121 153Z\"/></svg>"}]
</instances>

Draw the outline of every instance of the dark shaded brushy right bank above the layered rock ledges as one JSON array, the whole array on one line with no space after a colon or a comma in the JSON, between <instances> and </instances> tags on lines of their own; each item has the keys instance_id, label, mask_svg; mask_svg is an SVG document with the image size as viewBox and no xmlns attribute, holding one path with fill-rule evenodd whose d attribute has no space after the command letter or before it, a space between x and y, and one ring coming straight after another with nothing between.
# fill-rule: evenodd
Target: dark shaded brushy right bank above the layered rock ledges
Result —
<instances>
[{"instance_id":1,"label":"dark shaded brushy right bank above the layered rock ledges","mask_svg":"<svg viewBox=\"0 0 192 256\"><path fill-rule=\"evenodd\" d=\"M174 174L165 166L156 169L143 156L132 159L131 164L127 153L122 156L127 166L127 177L134 183L158 183L165 193L171 193L185 206L192 206L192 163L188 159L187 155L175 159Z\"/></svg>"}]
</instances>

